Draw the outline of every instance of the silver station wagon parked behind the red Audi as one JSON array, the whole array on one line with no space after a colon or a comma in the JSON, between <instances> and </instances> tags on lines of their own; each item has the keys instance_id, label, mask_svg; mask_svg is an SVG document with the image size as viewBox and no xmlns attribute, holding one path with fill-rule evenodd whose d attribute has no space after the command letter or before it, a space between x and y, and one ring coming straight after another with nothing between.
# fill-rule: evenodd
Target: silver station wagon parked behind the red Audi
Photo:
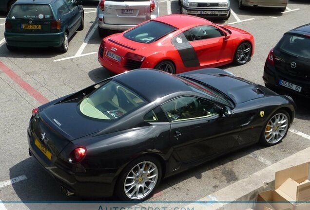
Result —
<instances>
[{"instance_id":1,"label":"silver station wagon parked behind the red Audi","mask_svg":"<svg viewBox=\"0 0 310 210\"><path fill-rule=\"evenodd\" d=\"M100 36L107 30L125 31L146 20L157 18L158 0L100 0L97 23Z\"/></svg>"}]
</instances>

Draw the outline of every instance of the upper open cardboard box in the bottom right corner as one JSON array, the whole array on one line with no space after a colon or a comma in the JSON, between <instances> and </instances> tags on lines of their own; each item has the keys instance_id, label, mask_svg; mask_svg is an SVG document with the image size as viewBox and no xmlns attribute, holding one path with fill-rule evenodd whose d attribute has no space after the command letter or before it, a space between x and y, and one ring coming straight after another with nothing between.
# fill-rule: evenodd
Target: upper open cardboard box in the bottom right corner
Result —
<instances>
[{"instance_id":1,"label":"upper open cardboard box in the bottom right corner","mask_svg":"<svg viewBox=\"0 0 310 210\"><path fill-rule=\"evenodd\" d=\"M310 162L275 173L275 191L288 201L310 201Z\"/></svg>"}]
</instances>

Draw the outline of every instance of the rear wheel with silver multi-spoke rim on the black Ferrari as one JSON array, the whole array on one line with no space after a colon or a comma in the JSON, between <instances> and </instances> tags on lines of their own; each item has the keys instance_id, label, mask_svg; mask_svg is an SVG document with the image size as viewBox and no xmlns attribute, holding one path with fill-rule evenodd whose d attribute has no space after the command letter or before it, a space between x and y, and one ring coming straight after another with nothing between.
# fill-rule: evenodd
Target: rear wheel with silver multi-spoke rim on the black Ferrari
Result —
<instances>
[{"instance_id":1,"label":"rear wheel with silver multi-spoke rim on the black Ferrari","mask_svg":"<svg viewBox=\"0 0 310 210\"><path fill-rule=\"evenodd\" d=\"M132 168L124 182L124 192L132 200L140 200L153 191L158 180L157 166L143 161Z\"/></svg>"}]
</instances>

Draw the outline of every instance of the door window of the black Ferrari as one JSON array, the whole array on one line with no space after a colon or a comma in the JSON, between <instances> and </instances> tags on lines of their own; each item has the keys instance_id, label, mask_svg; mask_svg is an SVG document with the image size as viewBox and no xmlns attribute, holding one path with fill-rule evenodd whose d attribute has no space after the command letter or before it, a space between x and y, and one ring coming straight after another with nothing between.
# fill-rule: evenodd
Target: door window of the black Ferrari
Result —
<instances>
[{"instance_id":1,"label":"door window of the black Ferrari","mask_svg":"<svg viewBox=\"0 0 310 210\"><path fill-rule=\"evenodd\" d=\"M172 122L209 117L217 114L215 104L196 97L176 98L162 105Z\"/></svg>"}]
</instances>

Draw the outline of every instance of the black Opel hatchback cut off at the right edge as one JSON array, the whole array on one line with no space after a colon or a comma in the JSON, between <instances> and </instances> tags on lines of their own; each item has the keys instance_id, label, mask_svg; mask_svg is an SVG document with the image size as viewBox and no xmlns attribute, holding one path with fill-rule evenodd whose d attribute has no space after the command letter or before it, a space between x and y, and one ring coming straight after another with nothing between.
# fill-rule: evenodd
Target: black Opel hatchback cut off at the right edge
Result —
<instances>
[{"instance_id":1,"label":"black Opel hatchback cut off at the right edge","mask_svg":"<svg viewBox=\"0 0 310 210\"><path fill-rule=\"evenodd\" d=\"M310 24L283 35L267 57L263 80L268 88L310 98Z\"/></svg>"}]
</instances>

